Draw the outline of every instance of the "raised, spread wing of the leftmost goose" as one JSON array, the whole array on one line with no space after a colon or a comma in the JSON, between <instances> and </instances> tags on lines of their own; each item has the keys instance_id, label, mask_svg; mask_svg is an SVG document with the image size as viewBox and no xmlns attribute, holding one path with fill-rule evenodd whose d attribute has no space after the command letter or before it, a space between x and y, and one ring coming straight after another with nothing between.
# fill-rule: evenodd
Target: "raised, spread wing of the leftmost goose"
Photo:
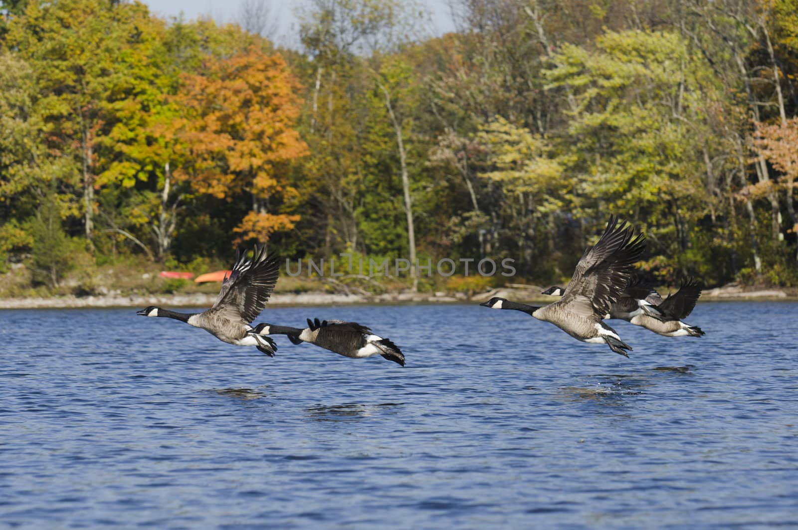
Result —
<instances>
[{"instance_id":1,"label":"raised, spread wing of the leftmost goose","mask_svg":"<svg viewBox=\"0 0 798 530\"><path fill-rule=\"evenodd\" d=\"M265 245L256 244L251 258L239 248L232 272L224 279L219 297L209 311L252 322L266 307L279 274L279 258L267 255Z\"/></svg>"}]
</instances>

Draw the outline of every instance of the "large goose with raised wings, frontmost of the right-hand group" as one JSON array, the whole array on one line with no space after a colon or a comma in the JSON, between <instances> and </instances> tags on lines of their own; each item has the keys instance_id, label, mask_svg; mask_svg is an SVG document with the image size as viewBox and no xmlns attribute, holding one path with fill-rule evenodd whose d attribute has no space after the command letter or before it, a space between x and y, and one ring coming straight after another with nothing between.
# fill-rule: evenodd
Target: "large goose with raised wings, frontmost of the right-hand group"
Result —
<instances>
[{"instance_id":1,"label":"large goose with raised wings, frontmost of the right-hand group","mask_svg":"<svg viewBox=\"0 0 798 530\"><path fill-rule=\"evenodd\" d=\"M645 248L644 240L642 234L635 236L626 222L618 224L618 218L610 216L599 242L587 248L576 264L563 298L546 307L536 307L494 297L480 306L523 311L538 320L551 322L573 338L606 343L610 350L629 357L626 350L632 347L602 322L602 318L626 287L632 263Z\"/></svg>"}]
</instances>

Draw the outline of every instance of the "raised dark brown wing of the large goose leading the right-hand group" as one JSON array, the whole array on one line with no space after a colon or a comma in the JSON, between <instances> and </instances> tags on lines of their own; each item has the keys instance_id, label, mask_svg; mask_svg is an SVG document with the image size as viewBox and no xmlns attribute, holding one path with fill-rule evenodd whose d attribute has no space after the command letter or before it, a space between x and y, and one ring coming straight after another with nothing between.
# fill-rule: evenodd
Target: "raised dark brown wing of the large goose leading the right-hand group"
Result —
<instances>
[{"instance_id":1,"label":"raised dark brown wing of the large goose leading the right-hand group","mask_svg":"<svg viewBox=\"0 0 798 530\"><path fill-rule=\"evenodd\" d=\"M576 265L563 298L551 304L584 317L600 320L629 282L632 264L645 248L645 237L634 235L626 222L610 216L595 247L588 248Z\"/></svg>"}]
</instances>

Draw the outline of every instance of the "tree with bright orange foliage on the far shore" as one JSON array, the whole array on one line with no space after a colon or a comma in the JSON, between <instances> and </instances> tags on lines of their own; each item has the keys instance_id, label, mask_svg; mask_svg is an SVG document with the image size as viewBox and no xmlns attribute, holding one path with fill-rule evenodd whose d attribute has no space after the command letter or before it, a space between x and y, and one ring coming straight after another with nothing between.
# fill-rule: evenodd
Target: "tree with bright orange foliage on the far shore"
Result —
<instances>
[{"instance_id":1,"label":"tree with bright orange foliage on the far shore","mask_svg":"<svg viewBox=\"0 0 798 530\"><path fill-rule=\"evenodd\" d=\"M286 168L308 152L294 129L298 81L279 54L267 55L255 47L232 57L207 57L202 71L185 75L176 96L184 118L174 125L189 161L175 178L219 199L251 196L252 209L235 228L236 243L267 241L300 218L269 212L275 203L297 195Z\"/></svg>"}]
</instances>

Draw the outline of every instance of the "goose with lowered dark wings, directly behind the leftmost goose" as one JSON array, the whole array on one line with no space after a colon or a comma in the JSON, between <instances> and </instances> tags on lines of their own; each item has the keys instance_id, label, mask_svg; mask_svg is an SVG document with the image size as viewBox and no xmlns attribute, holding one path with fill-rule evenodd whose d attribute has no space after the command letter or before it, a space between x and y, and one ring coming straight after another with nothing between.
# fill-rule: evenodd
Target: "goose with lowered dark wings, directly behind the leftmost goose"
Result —
<instances>
[{"instance_id":1,"label":"goose with lowered dark wings, directly behind the leftmost goose","mask_svg":"<svg viewBox=\"0 0 798 530\"><path fill-rule=\"evenodd\" d=\"M371 357L381 355L389 361L398 362L405 366L405 355L401 353L399 346L391 342L388 338L381 338L372 334L366 326L361 326L357 322L343 322L342 320L324 320L319 322L307 319L307 327L275 326L266 322L258 324L250 334L263 337L268 334L288 335L294 344L310 342L316 346L345 357Z\"/></svg>"}]
</instances>

